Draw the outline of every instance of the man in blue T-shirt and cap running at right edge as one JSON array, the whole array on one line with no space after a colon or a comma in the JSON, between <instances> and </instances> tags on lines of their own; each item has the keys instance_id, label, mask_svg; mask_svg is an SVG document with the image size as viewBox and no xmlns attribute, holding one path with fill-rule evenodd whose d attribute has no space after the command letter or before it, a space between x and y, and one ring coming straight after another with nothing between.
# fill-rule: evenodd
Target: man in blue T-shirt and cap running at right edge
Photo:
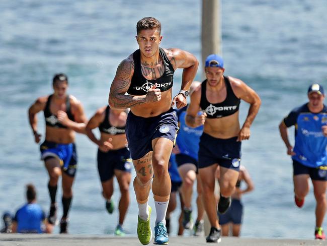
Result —
<instances>
[{"instance_id":1,"label":"man in blue T-shirt and cap running at right edge","mask_svg":"<svg viewBox=\"0 0 327 246\"><path fill-rule=\"evenodd\" d=\"M319 84L308 89L309 102L294 108L279 125L287 154L293 160L295 204L301 208L309 192L309 177L312 180L316 200L315 238L325 239L322 230L327 208L327 107L323 104L324 90ZM289 143L287 128L295 126L295 146Z\"/></svg>"}]
</instances>

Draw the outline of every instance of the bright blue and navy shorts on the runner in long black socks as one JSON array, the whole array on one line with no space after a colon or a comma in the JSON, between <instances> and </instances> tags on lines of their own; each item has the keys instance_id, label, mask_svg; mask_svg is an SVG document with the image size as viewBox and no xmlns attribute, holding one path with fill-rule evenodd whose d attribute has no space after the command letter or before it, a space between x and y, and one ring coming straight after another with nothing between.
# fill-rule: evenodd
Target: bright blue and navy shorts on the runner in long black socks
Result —
<instances>
[{"instance_id":1,"label":"bright blue and navy shorts on the runner in long black socks","mask_svg":"<svg viewBox=\"0 0 327 246\"><path fill-rule=\"evenodd\" d=\"M48 158L57 158L63 172L68 176L74 177L77 167L76 146L74 143L57 144L54 142L44 141L40 146L41 160Z\"/></svg>"}]
</instances>

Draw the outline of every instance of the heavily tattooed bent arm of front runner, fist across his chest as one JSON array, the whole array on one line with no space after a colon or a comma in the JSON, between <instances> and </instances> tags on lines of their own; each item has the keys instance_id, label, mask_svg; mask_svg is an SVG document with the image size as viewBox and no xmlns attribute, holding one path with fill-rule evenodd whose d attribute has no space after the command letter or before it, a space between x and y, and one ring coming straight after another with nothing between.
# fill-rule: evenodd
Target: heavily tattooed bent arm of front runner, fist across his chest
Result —
<instances>
[{"instance_id":1,"label":"heavily tattooed bent arm of front runner, fist across his chest","mask_svg":"<svg viewBox=\"0 0 327 246\"><path fill-rule=\"evenodd\" d=\"M156 102L161 99L160 89L155 86L148 90L146 95L125 95L134 73L134 60L132 55L124 59L118 66L116 76L109 92L109 105L113 109L130 108L138 104Z\"/></svg>"}]
</instances>

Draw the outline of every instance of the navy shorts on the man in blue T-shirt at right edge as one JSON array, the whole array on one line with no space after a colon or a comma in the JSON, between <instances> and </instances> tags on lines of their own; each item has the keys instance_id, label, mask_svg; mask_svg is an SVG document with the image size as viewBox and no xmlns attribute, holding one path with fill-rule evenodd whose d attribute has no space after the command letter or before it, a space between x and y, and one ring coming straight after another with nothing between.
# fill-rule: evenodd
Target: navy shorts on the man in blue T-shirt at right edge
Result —
<instances>
[{"instance_id":1,"label":"navy shorts on the man in blue T-shirt at right edge","mask_svg":"<svg viewBox=\"0 0 327 246\"><path fill-rule=\"evenodd\" d=\"M327 166L308 167L293 160L293 175L309 174L312 180L327 181Z\"/></svg>"}]
</instances>

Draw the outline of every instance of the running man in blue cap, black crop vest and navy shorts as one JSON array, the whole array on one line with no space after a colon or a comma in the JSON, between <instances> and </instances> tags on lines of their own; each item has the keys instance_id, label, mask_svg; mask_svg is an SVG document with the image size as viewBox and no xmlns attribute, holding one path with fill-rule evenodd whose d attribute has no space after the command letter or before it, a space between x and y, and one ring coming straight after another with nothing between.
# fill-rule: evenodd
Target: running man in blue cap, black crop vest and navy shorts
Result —
<instances>
[{"instance_id":1,"label":"running man in blue cap, black crop vest and navy shorts","mask_svg":"<svg viewBox=\"0 0 327 246\"><path fill-rule=\"evenodd\" d=\"M261 100L258 94L243 81L225 77L223 60L216 54L206 58L206 80L191 96L186 124L190 127L204 125L199 144L199 174L202 180L204 207L211 229L207 242L219 242L221 230L217 219L214 197L215 170L220 166L220 199L218 212L230 206L230 196L235 190L240 165L242 140L250 138L250 126L255 119ZM248 116L240 128L238 108L240 99L250 103ZM199 110L202 109L202 114Z\"/></svg>"}]
</instances>

